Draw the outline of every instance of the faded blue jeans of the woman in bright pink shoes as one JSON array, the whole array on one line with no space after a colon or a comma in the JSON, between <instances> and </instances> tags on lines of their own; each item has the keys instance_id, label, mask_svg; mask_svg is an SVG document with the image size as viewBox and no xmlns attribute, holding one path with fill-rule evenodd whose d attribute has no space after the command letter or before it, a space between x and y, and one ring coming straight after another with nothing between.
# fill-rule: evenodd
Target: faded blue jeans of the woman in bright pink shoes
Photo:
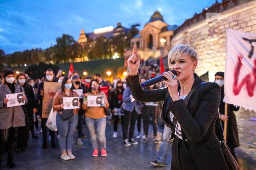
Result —
<instances>
[{"instance_id":1,"label":"faded blue jeans of the woman in bright pink shoes","mask_svg":"<svg viewBox=\"0 0 256 170\"><path fill-rule=\"evenodd\" d=\"M106 117L100 119L86 117L85 121L90 131L92 148L98 149L100 145L100 149L106 149Z\"/></svg>"}]
</instances>

